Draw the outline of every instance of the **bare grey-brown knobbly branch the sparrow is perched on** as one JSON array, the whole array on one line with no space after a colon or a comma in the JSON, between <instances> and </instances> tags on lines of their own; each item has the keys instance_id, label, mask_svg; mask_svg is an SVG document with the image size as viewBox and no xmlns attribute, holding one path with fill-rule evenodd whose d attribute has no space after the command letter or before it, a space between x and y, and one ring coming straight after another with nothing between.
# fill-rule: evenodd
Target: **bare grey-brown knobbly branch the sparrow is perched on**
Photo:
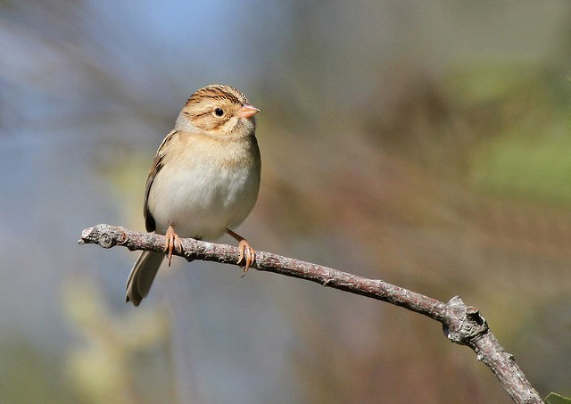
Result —
<instances>
[{"instance_id":1,"label":"bare grey-brown knobbly branch the sparrow is perched on","mask_svg":"<svg viewBox=\"0 0 571 404\"><path fill-rule=\"evenodd\" d=\"M165 237L140 233L125 227L98 225L85 229L79 243L95 243L103 248L121 245L131 251L161 252L164 250ZM208 243L191 238L181 239L181 243L183 252L175 251L173 254L189 261L207 260L236 265L238 260L238 249L228 244ZM476 352L476 358L490 367L512 400L518 404L543 402L517 366L513 355L506 352L492 334L479 310L466 305L459 296L443 303L382 280L368 279L265 251L256 251L256 260L251 268L306 279L323 286L386 301L433 318L443 325L444 334L451 342L467 345Z\"/></svg>"}]
</instances>

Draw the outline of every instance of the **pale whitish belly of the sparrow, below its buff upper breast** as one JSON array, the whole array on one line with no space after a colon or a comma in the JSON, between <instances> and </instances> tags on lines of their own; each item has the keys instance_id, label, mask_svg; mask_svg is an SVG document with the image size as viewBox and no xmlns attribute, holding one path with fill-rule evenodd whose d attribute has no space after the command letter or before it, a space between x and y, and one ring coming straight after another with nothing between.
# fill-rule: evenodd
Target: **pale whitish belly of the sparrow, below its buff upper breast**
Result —
<instances>
[{"instance_id":1,"label":"pale whitish belly of the sparrow, below its buff upper breast","mask_svg":"<svg viewBox=\"0 0 571 404\"><path fill-rule=\"evenodd\" d=\"M250 214L259 184L259 172L249 167L162 169L149 194L156 231L172 226L180 237L216 240Z\"/></svg>"}]
</instances>

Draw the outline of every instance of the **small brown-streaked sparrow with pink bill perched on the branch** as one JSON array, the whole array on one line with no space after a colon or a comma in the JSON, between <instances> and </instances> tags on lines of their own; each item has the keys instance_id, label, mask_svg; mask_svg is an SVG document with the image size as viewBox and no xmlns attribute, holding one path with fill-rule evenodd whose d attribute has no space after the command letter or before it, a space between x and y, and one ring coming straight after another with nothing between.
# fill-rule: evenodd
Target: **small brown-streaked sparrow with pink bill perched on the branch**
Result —
<instances>
[{"instance_id":1,"label":"small brown-streaked sparrow with pink bill perched on the branch","mask_svg":"<svg viewBox=\"0 0 571 404\"><path fill-rule=\"evenodd\" d=\"M244 275L255 251L234 232L252 211L260 188L261 158L253 116L260 110L236 88L213 84L196 91L159 146L145 188L145 227L166 236L163 253L144 251L127 280L138 306L166 256L182 251L179 237L239 243Z\"/></svg>"}]
</instances>

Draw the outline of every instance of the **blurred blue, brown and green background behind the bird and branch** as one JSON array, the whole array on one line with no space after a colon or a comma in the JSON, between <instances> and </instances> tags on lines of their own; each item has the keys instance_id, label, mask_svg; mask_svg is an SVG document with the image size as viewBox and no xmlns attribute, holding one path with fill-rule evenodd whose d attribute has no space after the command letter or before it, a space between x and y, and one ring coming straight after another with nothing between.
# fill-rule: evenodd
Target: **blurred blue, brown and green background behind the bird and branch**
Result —
<instances>
[{"instance_id":1,"label":"blurred blue, brown and green background behind the bird and branch","mask_svg":"<svg viewBox=\"0 0 571 404\"><path fill-rule=\"evenodd\" d=\"M481 309L571 395L567 1L0 1L0 401L509 403L434 321L174 260L139 308L145 179L209 83L261 109L255 249ZM222 239L224 243L235 243Z\"/></svg>"}]
</instances>

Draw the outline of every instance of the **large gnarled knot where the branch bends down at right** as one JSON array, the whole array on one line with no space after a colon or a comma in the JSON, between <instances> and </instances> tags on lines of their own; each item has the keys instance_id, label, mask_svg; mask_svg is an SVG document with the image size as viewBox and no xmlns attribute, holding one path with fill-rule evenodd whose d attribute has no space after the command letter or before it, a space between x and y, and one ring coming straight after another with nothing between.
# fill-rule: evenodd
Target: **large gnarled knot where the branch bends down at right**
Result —
<instances>
[{"instance_id":1,"label":"large gnarled knot where the branch bends down at right","mask_svg":"<svg viewBox=\"0 0 571 404\"><path fill-rule=\"evenodd\" d=\"M443 331L451 342L467 345L487 332L488 325L476 307L467 306L459 296L454 296L446 305L450 317L443 325Z\"/></svg>"}]
</instances>

